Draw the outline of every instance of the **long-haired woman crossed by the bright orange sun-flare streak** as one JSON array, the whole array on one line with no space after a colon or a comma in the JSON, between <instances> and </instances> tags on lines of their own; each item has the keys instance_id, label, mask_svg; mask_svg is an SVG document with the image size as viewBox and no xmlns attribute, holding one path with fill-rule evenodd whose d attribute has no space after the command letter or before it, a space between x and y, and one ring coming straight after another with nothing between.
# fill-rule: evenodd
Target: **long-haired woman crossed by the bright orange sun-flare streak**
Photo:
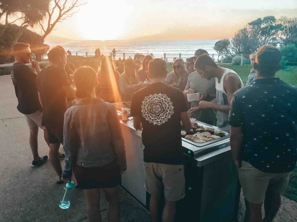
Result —
<instances>
[{"instance_id":1,"label":"long-haired woman crossed by the bright orange sun-flare streak","mask_svg":"<svg viewBox=\"0 0 297 222\"><path fill-rule=\"evenodd\" d=\"M120 73L114 68L110 56L104 56L102 58L100 71L97 73L97 76L98 85L96 87L96 95L106 102L120 102Z\"/></svg>"}]
</instances>

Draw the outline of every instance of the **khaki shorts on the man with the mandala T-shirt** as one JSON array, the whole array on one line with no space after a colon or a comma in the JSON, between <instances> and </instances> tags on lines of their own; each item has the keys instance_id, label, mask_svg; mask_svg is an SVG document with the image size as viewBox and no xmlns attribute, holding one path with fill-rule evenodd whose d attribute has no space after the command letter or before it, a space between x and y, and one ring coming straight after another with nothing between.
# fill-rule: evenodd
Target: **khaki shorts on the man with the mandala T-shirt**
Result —
<instances>
[{"instance_id":1,"label":"khaki shorts on the man with the mandala T-shirt","mask_svg":"<svg viewBox=\"0 0 297 222\"><path fill-rule=\"evenodd\" d=\"M166 200L177 201L185 197L184 165L144 162L146 191L160 196L164 188Z\"/></svg>"}]
</instances>

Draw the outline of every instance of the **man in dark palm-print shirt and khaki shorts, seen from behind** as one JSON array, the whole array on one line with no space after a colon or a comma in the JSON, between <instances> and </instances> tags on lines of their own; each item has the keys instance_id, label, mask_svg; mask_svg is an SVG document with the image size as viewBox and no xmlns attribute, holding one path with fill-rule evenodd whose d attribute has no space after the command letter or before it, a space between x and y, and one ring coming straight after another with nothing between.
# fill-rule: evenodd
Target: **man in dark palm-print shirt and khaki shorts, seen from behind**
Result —
<instances>
[{"instance_id":1,"label":"man in dark palm-print shirt and khaki shorts, seen from behind","mask_svg":"<svg viewBox=\"0 0 297 222\"><path fill-rule=\"evenodd\" d=\"M282 54L264 45L253 64L256 78L232 98L230 144L247 200L246 221L273 221L296 166L297 89L275 78Z\"/></svg>"}]
</instances>

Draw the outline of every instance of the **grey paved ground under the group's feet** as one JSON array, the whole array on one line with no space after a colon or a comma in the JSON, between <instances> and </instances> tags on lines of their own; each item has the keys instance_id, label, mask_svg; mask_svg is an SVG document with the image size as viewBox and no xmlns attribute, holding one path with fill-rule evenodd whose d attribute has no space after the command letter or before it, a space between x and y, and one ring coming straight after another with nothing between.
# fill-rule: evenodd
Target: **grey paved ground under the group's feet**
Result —
<instances>
[{"instance_id":1,"label":"grey paved ground under the group's feet","mask_svg":"<svg viewBox=\"0 0 297 222\"><path fill-rule=\"evenodd\" d=\"M24 116L16 109L17 99L10 76L0 76L0 221L70 222L87 221L83 191L75 192L75 201L61 210L58 201L64 185L56 185L57 176L47 162L32 168L29 130ZM48 147L40 131L40 155ZM63 151L63 150L61 150ZM64 161L61 161L64 166ZM123 189L119 190L121 221L150 221L149 213ZM106 221L106 200L101 195L101 213ZM274 221L297 221L297 203L282 197L282 206ZM243 221L241 197L238 221Z\"/></svg>"}]
</instances>

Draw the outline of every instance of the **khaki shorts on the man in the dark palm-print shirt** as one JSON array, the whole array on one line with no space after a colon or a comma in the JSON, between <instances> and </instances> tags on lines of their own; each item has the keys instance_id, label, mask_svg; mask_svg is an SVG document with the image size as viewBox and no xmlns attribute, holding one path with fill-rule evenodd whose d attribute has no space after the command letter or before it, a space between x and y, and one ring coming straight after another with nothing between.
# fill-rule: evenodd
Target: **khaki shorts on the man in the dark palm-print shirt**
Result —
<instances>
[{"instance_id":1,"label":"khaki shorts on the man in the dark palm-print shirt","mask_svg":"<svg viewBox=\"0 0 297 222\"><path fill-rule=\"evenodd\" d=\"M262 203L267 190L282 193L288 186L291 172L265 173L242 161L238 177L244 197L251 203Z\"/></svg>"}]
</instances>

